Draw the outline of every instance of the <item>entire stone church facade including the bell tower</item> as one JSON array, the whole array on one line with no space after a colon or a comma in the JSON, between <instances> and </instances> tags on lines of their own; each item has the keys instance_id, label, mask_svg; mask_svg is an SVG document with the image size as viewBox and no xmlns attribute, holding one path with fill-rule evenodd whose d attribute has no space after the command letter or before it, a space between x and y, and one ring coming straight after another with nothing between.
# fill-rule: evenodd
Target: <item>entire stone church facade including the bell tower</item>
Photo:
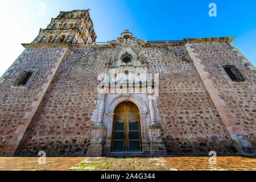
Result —
<instances>
[{"instance_id":1,"label":"entire stone church facade including the bell tower","mask_svg":"<svg viewBox=\"0 0 256 182\"><path fill-rule=\"evenodd\" d=\"M255 67L234 37L96 42L61 11L0 78L0 155L255 154Z\"/></svg>"}]
</instances>

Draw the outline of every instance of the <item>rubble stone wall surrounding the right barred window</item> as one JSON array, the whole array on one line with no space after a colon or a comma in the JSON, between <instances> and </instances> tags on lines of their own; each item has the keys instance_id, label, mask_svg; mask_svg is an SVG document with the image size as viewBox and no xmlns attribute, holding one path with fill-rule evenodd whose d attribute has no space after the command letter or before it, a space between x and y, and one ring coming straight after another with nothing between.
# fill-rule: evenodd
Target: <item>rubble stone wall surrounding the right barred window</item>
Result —
<instances>
[{"instance_id":1,"label":"rubble stone wall surrounding the right barred window","mask_svg":"<svg viewBox=\"0 0 256 182\"><path fill-rule=\"evenodd\" d=\"M256 146L255 130L255 68L246 63L245 57L228 43L193 44L199 54L202 64L213 81L213 86L221 93L222 100L228 106L228 111L236 118L237 126L245 131L243 137ZM218 65L234 64L246 78L246 82L229 83Z\"/></svg>"}]
</instances>

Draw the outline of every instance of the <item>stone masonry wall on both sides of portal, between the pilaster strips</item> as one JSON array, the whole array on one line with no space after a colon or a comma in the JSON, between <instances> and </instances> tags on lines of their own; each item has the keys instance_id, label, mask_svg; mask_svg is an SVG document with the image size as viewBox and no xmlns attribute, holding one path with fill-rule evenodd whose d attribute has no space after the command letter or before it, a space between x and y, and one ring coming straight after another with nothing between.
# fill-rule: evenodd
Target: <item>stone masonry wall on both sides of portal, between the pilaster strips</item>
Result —
<instances>
[{"instance_id":1,"label":"stone masonry wall on both sides of portal, between the pilaster strips","mask_svg":"<svg viewBox=\"0 0 256 182\"><path fill-rule=\"evenodd\" d=\"M122 47L70 52L20 155L85 155L91 138L98 73ZM133 46L160 73L158 109L169 154L236 152L184 46Z\"/></svg>"}]
</instances>

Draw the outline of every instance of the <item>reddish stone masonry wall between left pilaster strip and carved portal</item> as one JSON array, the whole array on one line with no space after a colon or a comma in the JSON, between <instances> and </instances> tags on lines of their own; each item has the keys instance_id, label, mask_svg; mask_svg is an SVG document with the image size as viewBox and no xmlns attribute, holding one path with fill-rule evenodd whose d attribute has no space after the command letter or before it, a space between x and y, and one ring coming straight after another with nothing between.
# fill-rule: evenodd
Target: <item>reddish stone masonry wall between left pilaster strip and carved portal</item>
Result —
<instances>
[{"instance_id":1,"label":"reddish stone masonry wall between left pilaster strip and carved portal","mask_svg":"<svg viewBox=\"0 0 256 182\"><path fill-rule=\"evenodd\" d=\"M47 155L85 155L98 97L97 76L104 73L107 52L71 51L20 154L43 150Z\"/></svg>"}]
</instances>

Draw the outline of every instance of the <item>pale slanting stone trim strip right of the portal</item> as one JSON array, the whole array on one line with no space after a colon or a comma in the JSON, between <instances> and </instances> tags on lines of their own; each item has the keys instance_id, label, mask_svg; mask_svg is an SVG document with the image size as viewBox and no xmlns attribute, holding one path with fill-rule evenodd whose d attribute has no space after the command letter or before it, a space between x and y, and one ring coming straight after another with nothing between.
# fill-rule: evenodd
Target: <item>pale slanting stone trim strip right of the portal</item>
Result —
<instances>
[{"instance_id":1,"label":"pale slanting stone trim strip right of the portal","mask_svg":"<svg viewBox=\"0 0 256 182\"><path fill-rule=\"evenodd\" d=\"M185 48L187 49L188 55L191 57L191 60L193 61L193 64L195 65L197 72L199 73L201 79L203 80L205 88L207 89L210 98L213 101L213 104L216 106L216 109L218 110L218 113L220 114L220 117L224 122L224 125L226 126L226 129L228 130L228 133L230 134L230 137L234 142L234 146L236 146L240 154L244 154L244 150L252 147L251 143L248 140L243 139L242 127L236 126L235 115L229 113L228 110L226 109L225 101L219 97L220 93L216 88L214 88L213 81L211 80L209 73L204 71L205 67L203 64L201 64L202 61L198 57L196 50L193 49L193 44L185 44Z\"/></svg>"}]
</instances>

